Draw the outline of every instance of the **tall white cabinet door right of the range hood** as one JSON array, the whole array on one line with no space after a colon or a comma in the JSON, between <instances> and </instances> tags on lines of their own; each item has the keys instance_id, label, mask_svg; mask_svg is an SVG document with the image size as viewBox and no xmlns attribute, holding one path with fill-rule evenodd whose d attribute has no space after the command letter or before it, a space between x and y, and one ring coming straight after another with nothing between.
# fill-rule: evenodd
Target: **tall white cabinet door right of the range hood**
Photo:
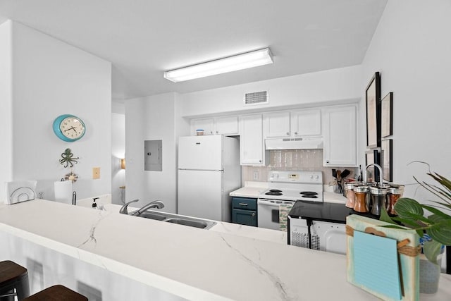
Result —
<instances>
[{"instance_id":1,"label":"tall white cabinet door right of the range hood","mask_svg":"<svg viewBox=\"0 0 451 301\"><path fill-rule=\"evenodd\" d=\"M357 106L323 109L324 166L357 166Z\"/></svg>"}]
</instances>

